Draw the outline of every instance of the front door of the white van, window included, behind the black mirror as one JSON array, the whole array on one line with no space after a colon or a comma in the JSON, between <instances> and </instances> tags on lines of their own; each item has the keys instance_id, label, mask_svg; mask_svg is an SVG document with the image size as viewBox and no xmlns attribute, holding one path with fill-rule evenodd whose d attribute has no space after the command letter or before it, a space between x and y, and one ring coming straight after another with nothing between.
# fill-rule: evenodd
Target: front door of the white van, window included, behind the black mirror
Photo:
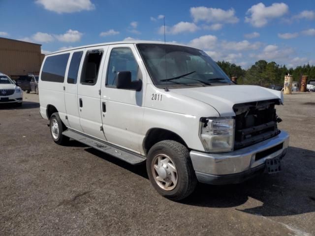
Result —
<instances>
[{"instance_id":1,"label":"front door of the white van, window included, behind the black mirror","mask_svg":"<svg viewBox=\"0 0 315 236\"><path fill-rule=\"evenodd\" d=\"M117 89L116 75L130 71L131 80L146 84L146 72L133 44L109 46L101 85L103 129L107 141L141 153L141 127L146 87L141 91Z\"/></svg>"}]
</instances>

